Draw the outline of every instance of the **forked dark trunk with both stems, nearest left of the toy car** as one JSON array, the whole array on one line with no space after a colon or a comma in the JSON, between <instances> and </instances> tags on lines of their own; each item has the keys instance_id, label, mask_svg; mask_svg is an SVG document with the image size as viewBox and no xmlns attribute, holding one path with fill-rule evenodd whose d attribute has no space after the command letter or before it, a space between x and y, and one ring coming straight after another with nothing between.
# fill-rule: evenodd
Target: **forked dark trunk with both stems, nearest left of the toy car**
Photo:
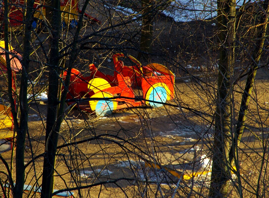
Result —
<instances>
[{"instance_id":1,"label":"forked dark trunk with both stems, nearest left of the toy car","mask_svg":"<svg viewBox=\"0 0 269 198\"><path fill-rule=\"evenodd\" d=\"M43 179L42 179L42 190L41 197L50 198L51 194L54 190L54 166L56 160L56 152L57 152L57 143L58 143L58 134L60 131L61 123L63 120L64 113L64 105L66 94L68 92L68 86L70 82L70 74L73 67L73 63L76 59L77 54L77 43L79 38L79 33L82 28L83 23L83 15L86 10L86 7L89 3L89 0L84 2L82 11L80 13L79 22L77 24L76 33L74 36L72 50L70 52L70 60L67 68L67 76L65 80L65 89L61 94L61 100L58 101L58 82L59 82L59 32L60 30L55 30L55 39L52 40L52 46L54 46L53 51L51 52L51 64L54 67L50 68L49 73L49 90L48 90L48 113L47 113L47 127L46 127L46 143L45 143L45 158L43 164ZM58 5L57 5L58 6ZM56 5L55 5L56 7ZM56 15L56 13L55 13ZM58 15L56 17L52 15L53 19L58 19ZM61 16L60 16L61 17ZM61 21L58 20L58 22ZM54 25L60 24L55 22ZM54 25L52 27L54 27ZM54 27L56 29L56 27ZM54 30L54 29L53 29ZM57 59L54 59L57 57Z\"/></svg>"}]
</instances>

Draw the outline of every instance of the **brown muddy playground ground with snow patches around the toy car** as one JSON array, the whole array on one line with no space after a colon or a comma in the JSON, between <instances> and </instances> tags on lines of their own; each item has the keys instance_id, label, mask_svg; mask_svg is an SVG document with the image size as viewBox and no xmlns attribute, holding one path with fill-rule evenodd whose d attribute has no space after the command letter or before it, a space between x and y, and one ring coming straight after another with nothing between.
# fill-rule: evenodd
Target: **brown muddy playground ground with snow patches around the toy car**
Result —
<instances>
[{"instance_id":1,"label":"brown muddy playground ground with snow patches around the toy car","mask_svg":"<svg viewBox=\"0 0 269 198\"><path fill-rule=\"evenodd\" d=\"M99 13L90 9L88 12L97 16ZM104 17L99 15L97 18L103 21L104 26L107 25ZM176 75L175 98L167 105L117 110L106 117L96 117L76 107L70 111L66 109L66 118L59 134L58 146L61 148L56 159L55 189L70 188L75 197L171 197L174 192L178 197L203 196L208 188L210 173L178 182L182 177L175 177L171 170L177 176L210 171L218 62L216 51L211 48L214 46L215 28L212 23L214 20L175 23L158 15L154 23L154 38L157 40L154 42L155 55L151 60L165 64ZM85 31L87 33L94 28L97 27ZM41 37L45 38L45 35ZM133 42L139 42L139 37L134 37ZM205 44L211 47L206 48ZM102 51L98 57L96 54L83 53L79 56L77 69L87 74L88 64L94 62L102 64L103 68L100 69L111 73L112 52ZM266 57L263 62L266 62ZM236 62L238 67L246 65L246 59ZM181 67L188 72L183 72ZM37 66L33 65L33 68ZM33 79L34 69L31 73ZM235 76L241 72L243 70L235 69ZM199 80L192 75L199 77ZM44 91L46 77L41 80L43 84L36 90ZM235 112L240 105L243 80L239 80L234 87L235 103L231 108ZM240 174L245 178L245 188L255 185L261 159L266 159L261 157L266 146L260 140L267 140L268 133L268 80L268 67L260 68L250 101L247 129L239 149ZM30 104L25 183L33 186L36 181L41 183L43 157L36 159L35 163L30 161L44 152L46 116L46 104ZM11 151L2 153L2 156L10 163ZM156 164L149 167L148 161ZM154 168L157 165L161 165L162 170ZM0 164L0 169L5 170L3 164ZM119 181L111 182L115 179Z\"/></svg>"}]
</instances>

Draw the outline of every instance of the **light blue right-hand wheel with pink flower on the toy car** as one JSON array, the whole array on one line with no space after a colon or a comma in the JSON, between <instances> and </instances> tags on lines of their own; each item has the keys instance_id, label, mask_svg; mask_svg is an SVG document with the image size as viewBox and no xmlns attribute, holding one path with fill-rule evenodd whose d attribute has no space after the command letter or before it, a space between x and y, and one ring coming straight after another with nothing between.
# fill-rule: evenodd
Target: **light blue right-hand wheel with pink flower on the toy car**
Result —
<instances>
[{"instance_id":1,"label":"light blue right-hand wheel with pink flower on the toy car","mask_svg":"<svg viewBox=\"0 0 269 198\"><path fill-rule=\"evenodd\" d=\"M163 104L161 103L155 103L155 102L162 102L165 103L167 100L167 93L165 88L163 87L155 87L153 90L150 92L150 96L148 98L150 100L149 104L152 107L161 107Z\"/></svg>"}]
</instances>

